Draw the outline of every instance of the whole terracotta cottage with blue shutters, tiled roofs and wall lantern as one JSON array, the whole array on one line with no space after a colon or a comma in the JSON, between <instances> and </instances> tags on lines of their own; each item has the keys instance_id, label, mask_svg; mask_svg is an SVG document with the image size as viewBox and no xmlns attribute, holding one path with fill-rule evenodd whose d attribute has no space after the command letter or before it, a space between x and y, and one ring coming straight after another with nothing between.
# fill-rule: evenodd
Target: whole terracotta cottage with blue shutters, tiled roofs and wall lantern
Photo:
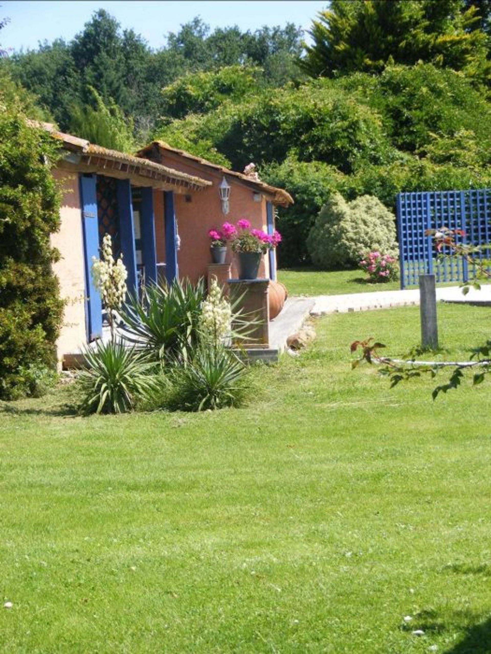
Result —
<instances>
[{"instance_id":1,"label":"whole terracotta cottage with blue shutters, tiled roofs and wall lantern","mask_svg":"<svg viewBox=\"0 0 491 654\"><path fill-rule=\"evenodd\" d=\"M275 205L293 200L287 192L242 173L155 142L136 156L89 143L43 124L62 146L53 171L63 199L60 231L52 245L60 252L54 271L65 300L58 360L102 335L100 293L92 283L92 258L99 258L109 233L122 253L128 288L175 277L207 277L208 230L246 217L272 233ZM231 254L227 274L234 275ZM276 277L272 251L260 274Z\"/></svg>"}]
</instances>

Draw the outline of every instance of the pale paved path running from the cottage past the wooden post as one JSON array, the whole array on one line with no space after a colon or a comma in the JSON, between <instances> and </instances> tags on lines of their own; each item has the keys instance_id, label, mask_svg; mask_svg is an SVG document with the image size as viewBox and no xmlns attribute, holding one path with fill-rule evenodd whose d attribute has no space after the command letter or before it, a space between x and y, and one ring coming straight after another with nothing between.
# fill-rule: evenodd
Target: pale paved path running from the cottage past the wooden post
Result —
<instances>
[{"instance_id":1,"label":"pale paved path running from the cottage past the wooden post","mask_svg":"<svg viewBox=\"0 0 491 654\"><path fill-rule=\"evenodd\" d=\"M437 288L437 300L491 306L491 284L482 285L481 290L471 288L467 295L464 295L462 288L458 286ZM295 334L310 316L404 307L419 305L419 303L419 288L376 290L370 293L348 295L321 295L314 298L287 298L280 315L270 322L270 347L284 351L287 337Z\"/></svg>"}]
</instances>

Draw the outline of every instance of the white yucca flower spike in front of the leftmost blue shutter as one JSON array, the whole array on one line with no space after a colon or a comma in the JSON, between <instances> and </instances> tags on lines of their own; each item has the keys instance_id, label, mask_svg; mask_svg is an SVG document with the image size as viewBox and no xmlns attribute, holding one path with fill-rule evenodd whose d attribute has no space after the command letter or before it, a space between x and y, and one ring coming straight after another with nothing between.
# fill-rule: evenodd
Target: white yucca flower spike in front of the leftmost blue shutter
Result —
<instances>
[{"instance_id":1,"label":"white yucca flower spike in front of the leftmost blue shutter","mask_svg":"<svg viewBox=\"0 0 491 654\"><path fill-rule=\"evenodd\" d=\"M92 257L92 280L100 291L103 304L108 309L119 309L126 296L128 272L122 262L122 255L115 262L111 236L105 234L102 241L101 258Z\"/></svg>"}]
</instances>

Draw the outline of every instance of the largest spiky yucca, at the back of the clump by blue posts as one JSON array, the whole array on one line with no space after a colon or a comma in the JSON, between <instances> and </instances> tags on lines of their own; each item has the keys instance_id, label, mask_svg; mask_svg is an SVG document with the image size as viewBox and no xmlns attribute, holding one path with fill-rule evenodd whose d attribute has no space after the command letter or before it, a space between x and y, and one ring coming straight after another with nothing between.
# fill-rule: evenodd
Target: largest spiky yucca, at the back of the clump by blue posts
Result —
<instances>
[{"instance_id":1,"label":"largest spiky yucca, at the back of the clump by blue posts","mask_svg":"<svg viewBox=\"0 0 491 654\"><path fill-rule=\"evenodd\" d=\"M135 294L120 312L124 338L160 362L187 360L198 343L198 321L205 297L204 280L192 284L149 284L141 298Z\"/></svg>"}]
</instances>

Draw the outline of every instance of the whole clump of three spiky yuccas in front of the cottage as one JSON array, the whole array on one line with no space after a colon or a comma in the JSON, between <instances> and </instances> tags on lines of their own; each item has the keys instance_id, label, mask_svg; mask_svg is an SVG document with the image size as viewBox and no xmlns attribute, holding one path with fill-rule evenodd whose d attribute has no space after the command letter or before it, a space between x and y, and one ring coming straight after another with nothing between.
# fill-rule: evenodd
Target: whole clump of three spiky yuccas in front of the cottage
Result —
<instances>
[{"instance_id":1,"label":"whole clump of three spiky yuccas in front of the cottage","mask_svg":"<svg viewBox=\"0 0 491 654\"><path fill-rule=\"evenodd\" d=\"M226 341L247 332L244 317L234 315L236 334L232 307L216 284L208 302L204 297L202 280L152 284L141 300L133 296L121 312L123 339L84 350L81 412L122 413L136 405L204 411L240 404L245 366ZM132 348L126 347L128 341Z\"/></svg>"}]
</instances>

